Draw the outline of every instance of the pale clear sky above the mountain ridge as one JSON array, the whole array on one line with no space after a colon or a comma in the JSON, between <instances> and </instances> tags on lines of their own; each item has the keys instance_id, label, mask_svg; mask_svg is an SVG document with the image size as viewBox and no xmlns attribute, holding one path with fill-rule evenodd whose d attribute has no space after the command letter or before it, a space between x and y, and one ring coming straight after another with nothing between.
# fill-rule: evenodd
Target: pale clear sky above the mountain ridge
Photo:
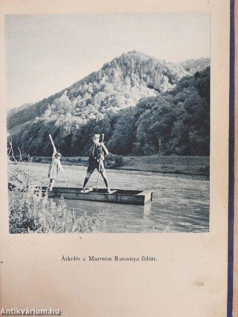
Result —
<instances>
[{"instance_id":1,"label":"pale clear sky above the mountain ridge","mask_svg":"<svg viewBox=\"0 0 238 317\"><path fill-rule=\"evenodd\" d=\"M129 51L210 57L209 12L5 15L6 107L47 98Z\"/></svg>"}]
</instances>

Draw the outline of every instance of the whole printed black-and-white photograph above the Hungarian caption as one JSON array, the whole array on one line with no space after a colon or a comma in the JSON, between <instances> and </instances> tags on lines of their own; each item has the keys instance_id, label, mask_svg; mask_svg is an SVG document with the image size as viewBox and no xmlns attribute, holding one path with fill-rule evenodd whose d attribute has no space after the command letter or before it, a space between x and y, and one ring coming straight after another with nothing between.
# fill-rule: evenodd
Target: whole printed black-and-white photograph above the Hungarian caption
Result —
<instances>
[{"instance_id":1,"label":"whole printed black-and-white photograph above the Hungarian caption","mask_svg":"<svg viewBox=\"0 0 238 317\"><path fill-rule=\"evenodd\" d=\"M210 13L4 16L9 233L209 232Z\"/></svg>"}]
</instances>

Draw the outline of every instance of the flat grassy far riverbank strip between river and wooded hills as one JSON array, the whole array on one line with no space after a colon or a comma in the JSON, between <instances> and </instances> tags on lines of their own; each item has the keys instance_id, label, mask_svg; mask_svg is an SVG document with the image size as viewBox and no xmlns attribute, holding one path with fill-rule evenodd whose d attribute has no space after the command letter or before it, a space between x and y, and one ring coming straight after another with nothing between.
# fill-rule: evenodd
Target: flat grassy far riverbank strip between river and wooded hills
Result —
<instances>
[{"instance_id":1,"label":"flat grassy far riverbank strip between river and wooded hills","mask_svg":"<svg viewBox=\"0 0 238 317\"><path fill-rule=\"evenodd\" d=\"M51 157L33 157L33 162L50 163ZM62 164L87 166L87 157L62 157ZM157 173L209 176L209 157L146 156L122 157L110 154L105 159L106 168L137 170Z\"/></svg>"}]
</instances>

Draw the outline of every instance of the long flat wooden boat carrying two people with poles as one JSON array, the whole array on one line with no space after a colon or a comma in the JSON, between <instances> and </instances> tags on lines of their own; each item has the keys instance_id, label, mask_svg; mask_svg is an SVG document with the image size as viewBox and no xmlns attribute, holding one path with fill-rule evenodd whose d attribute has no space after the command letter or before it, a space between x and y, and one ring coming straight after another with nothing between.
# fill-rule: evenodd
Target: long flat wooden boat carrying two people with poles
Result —
<instances>
[{"instance_id":1,"label":"long flat wooden boat carrying two people with poles","mask_svg":"<svg viewBox=\"0 0 238 317\"><path fill-rule=\"evenodd\" d=\"M35 192L42 191L46 195L46 187L35 187ZM111 194L106 189L87 188L85 193L82 188L76 187L54 187L48 192L49 198L63 197L65 199L87 200L94 202L145 205L152 201L152 192L143 190L113 189Z\"/></svg>"}]
</instances>

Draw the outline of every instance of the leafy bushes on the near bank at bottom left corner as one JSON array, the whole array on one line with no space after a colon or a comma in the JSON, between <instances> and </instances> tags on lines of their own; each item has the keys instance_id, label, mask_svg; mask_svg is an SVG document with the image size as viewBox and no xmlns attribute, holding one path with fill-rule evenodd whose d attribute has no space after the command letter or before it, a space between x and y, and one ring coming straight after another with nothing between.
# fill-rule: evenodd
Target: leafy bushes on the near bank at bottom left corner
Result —
<instances>
[{"instance_id":1,"label":"leafy bushes on the near bank at bottom left corner","mask_svg":"<svg viewBox=\"0 0 238 317\"><path fill-rule=\"evenodd\" d=\"M63 198L57 205L53 200L31 191L8 191L10 233L69 233L96 232L100 214L77 217L74 210L66 209Z\"/></svg>"}]
</instances>

